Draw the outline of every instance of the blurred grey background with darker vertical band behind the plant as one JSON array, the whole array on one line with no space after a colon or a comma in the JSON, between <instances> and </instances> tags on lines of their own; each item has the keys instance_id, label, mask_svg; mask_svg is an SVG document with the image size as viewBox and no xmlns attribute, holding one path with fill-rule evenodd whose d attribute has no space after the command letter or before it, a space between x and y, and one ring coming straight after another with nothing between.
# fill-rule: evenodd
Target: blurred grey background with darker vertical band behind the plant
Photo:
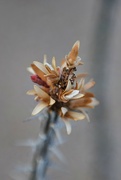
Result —
<instances>
[{"instance_id":1,"label":"blurred grey background with darker vertical band behind the plant","mask_svg":"<svg viewBox=\"0 0 121 180\"><path fill-rule=\"evenodd\" d=\"M45 53L59 65L76 40L84 62L78 69L95 79L100 105L89 111L90 123L74 124L70 136L63 128L66 168L48 174L53 180L121 179L121 1L0 0L1 180L30 163L31 150L15 145L39 133L37 120L23 122L36 104L26 95L33 87L26 67ZM15 177L22 179L22 172Z\"/></svg>"}]
</instances>

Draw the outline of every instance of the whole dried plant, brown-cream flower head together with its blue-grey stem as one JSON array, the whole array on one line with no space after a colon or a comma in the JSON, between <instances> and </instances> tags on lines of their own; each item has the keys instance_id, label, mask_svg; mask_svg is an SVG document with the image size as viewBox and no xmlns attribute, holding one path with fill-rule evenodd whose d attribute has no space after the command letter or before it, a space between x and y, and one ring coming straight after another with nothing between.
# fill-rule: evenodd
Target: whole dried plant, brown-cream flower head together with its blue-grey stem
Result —
<instances>
[{"instance_id":1,"label":"whole dried plant, brown-cream flower head together with its blue-grey stem","mask_svg":"<svg viewBox=\"0 0 121 180\"><path fill-rule=\"evenodd\" d=\"M43 63L34 61L31 67L27 68L32 73L31 80L35 83L34 89L29 90L27 94L35 96L38 102L32 115L44 109L48 114L43 127L44 138L39 137L36 143L30 180L40 180L45 177L50 163L49 148L54 145L57 134L55 124L58 122L58 117L62 118L67 133L70 134L70 120L89 120L85 108L94 108L98 104L94 94L88 91L95 82L90 80L85 83L87 74L75 74L77 66L83 64L78 56L79 47L80 42L77 41L62 60L61 66L56 65L55 57L52 58L52 64L49 64L44 56Z\"/></svg>"}]
</instances>

